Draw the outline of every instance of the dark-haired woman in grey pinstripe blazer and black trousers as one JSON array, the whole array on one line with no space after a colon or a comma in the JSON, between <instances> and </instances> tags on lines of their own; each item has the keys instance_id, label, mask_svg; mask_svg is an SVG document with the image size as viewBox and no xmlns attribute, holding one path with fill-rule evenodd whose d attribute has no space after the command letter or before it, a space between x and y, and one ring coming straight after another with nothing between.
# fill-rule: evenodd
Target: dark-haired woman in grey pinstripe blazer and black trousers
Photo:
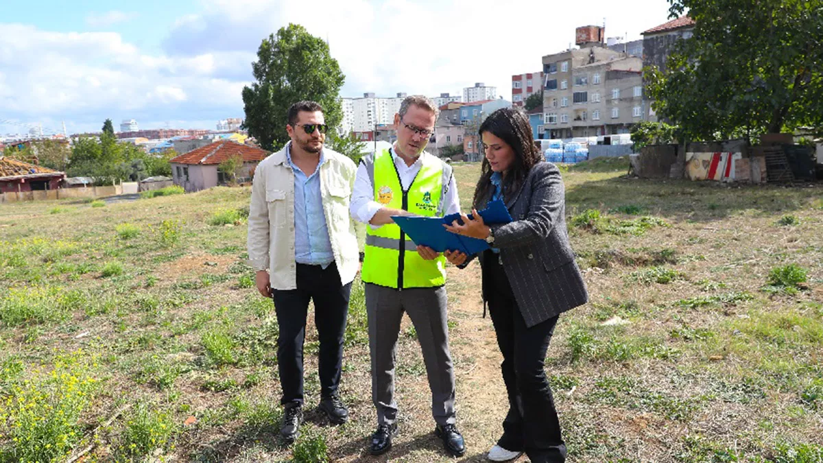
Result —
<instances>
[{"instance_id":1,"label":"dark-haired woman in grey pinstripe blazer and black trousers","mask_svg":"<svg viewBox=\"0 0 823 463\"><path fill-rule=\"evenodd\" d=\"M563 180L542 159L523 111L496 110L480 126L486 152L474 194L472 216L462 216L449 232L485 239L492 247L479 255L483 301L488 304L500 368L509 395L503 436L489 451L492 461L526 452L532 462L565 461L544 360L560 313L588 302L588 293L569 245ZM486 226L477 209L503 199L514 222ZM467 255L446 251L465 267Z\"/></svg>"}]
</instances>

